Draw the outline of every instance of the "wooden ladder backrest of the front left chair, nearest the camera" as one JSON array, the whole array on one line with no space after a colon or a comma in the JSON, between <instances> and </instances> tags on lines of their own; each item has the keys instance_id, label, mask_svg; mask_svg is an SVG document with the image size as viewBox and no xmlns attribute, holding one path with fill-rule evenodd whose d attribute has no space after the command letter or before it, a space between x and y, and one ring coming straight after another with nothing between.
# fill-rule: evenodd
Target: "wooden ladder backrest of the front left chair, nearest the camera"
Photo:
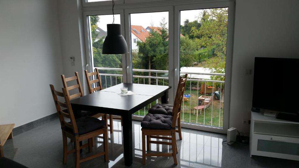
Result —
<instances>
[{"instance_id":1,"label":"wooden ladder backrest of the front left chair, nearest the camera","mask_svg":"<svg viewBox=\"0 0 299 168\"><path fill-rule=\"evenodd\" d=\"M65 127L68 127L73 130L74 134L77 134L78 128L77 128L77 124L71 107L70 100L68 98L68 95L66 94L66 89L62 88L62 92L60 92L55 90L53 85L50 85L50 89L54 99L58 117L60 120L61 128L64 129ZM64 97L65 103L59 101L57 96ZM68 113L63 112L61 107L68 109ZM70 123L66 122L64 117L71 119L71 122Z\"/></svg>"}]
</instances>

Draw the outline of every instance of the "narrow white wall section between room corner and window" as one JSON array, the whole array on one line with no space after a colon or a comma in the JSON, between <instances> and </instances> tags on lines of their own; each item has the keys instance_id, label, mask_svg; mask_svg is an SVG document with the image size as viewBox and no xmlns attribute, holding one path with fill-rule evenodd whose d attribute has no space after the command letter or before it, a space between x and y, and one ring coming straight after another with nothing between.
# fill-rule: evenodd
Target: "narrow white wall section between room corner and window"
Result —
<instances>
[{"instance_id":1,"label":"narrow white wall section between room corner and window","mask_svg":"<svg viewBox=\"0 0 299 168\"><path fill-rule=\"evenodd\" d=\"M83 13L81 0L58 1L58 19L61 39L62 66L65 77L79 72L80 81L88 94L85 75L86 69L85 43L83 30ZM74 56L74 66L71 66L70 56ZM89 64L89 63L88 63Z\"/></svg>"}]
</instances>

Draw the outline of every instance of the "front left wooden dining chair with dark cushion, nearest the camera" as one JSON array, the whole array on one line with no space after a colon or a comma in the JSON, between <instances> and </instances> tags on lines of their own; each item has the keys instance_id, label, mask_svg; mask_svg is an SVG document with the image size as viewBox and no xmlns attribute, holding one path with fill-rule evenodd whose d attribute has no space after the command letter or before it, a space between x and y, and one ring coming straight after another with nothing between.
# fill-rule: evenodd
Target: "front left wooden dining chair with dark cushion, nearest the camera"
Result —
<instances>
[{"instance_id":1,"label":"front left wooden dining chair with dark cushion, nearest the camera","mask_svg":"<svg viewBox=\"0 0 299 168\"><path fill-rule=\"evenodd\" d=\"M104 120L99 120L95 117L81 117L75 119L73 110L67 90L62 88L62 92L56 91L53 85L50 85L53 95L54 103L59 116L61 129L62 129L62 141L63 141L63 164L67 162L67 155L75 152L75 168L79 168L81 162L104 155L104 160L108 161L108 133L107 126ZM64 97L64 101L58 100L58 97ZM63 103L65 102L65 103ZM66 113L62 108L68 109ZM65 121L65 118L69 118L71 121ZM97 135L103 134L104 151L95 155L80 159L80 149L88 147L89 152L92 152L92 139ZM75 149L68 151L67 138L74 141ZM88 143L80 146L82 140L88 140Z\"/></svg>"}]
</instances>

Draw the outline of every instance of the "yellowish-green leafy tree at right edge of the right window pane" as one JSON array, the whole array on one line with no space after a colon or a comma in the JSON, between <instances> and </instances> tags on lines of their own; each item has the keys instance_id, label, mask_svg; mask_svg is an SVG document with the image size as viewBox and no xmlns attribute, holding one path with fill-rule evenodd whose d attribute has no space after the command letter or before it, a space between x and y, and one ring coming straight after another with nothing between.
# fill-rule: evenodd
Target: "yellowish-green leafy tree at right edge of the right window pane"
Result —
<instances>
[{"instance_id":1,"label":"yellowish-green leafy tree at right edge of the right window pane","mask_svg":"<svg viewBox=\"0 0 299 168\"><path fill-rule=\"evenodd\" d=\"M201 27L193 29L194 36L201 36L198 42L202 47L214 48L213 59L206 59L206 67L212 73L225 73L226 40L228 26L228 8L204 9ZM213 80L225 80L221 76L212 76Z\"/></svg>"}]
</instances>

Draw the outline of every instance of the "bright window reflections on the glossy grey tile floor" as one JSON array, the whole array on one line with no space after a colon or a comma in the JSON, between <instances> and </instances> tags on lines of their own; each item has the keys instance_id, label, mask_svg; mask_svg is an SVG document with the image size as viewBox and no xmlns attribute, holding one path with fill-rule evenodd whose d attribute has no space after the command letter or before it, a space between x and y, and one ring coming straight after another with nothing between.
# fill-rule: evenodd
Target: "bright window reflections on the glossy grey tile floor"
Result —
<instances>
[{"instance_id":1,"label":"bright window reflections on the glossy grey tile floor","mask_svg":"<svg viewBox=\"0 0 299 168\"><path fill-rule=\"evenodd\" d=\"M120 159L123 158L123 141L122 127L117 120L113 121L114 132L108 132L109 146L113 146L115 159L110 159L109 167L113 167ZM140 121L133 121L133 145L134 157L142 158L142 133ZM109 129L108 129L109 130ZM178 154L177 159L181 167L221 167L222 161L222 138L213 137L209 132L198 131L193 129L182 130L182 140L179 140L177 135ZM157 140L152 138L152 140ZM169 141L170 140L161 140ZM103 137L97 137L97 147L102 148ZM120 148L120 150L115 150ZM151 144L150 151L147 152L172 152L172 147L169 145ZM147 157L147 164L151 161L161 163L163 161L172 162L172 157ZM139 160L138 160L139 161ZM141 160L140 160L141 161ZM158 162L157 162L158 161ZM148 163L149 162L149 163Z\"/></svg>"}]
</instances>

